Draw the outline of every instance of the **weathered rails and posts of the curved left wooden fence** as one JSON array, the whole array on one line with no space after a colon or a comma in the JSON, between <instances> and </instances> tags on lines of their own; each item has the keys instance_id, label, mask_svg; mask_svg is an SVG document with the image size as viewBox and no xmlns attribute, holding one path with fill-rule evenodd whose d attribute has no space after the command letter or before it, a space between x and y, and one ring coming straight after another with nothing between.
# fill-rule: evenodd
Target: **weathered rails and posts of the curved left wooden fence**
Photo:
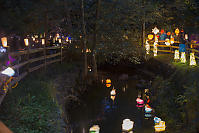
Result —
<instances>
[{"instance_id":1,"label":"weathered rails and posts of the curved left wooden fence","mask_svg":"<svg viewBox=\"0 0 199 133\"><path fill-rule=\"evenodd\" d=\"M56 53L47 55L46 50L54 50ZM26 49L23 51L9 53L9 55L11 55L13 58L14 57L18 58L20 56L27 55L27 58L23 62L21 62L21 63L18 62L18 64L10 66L18 73L19 73L20 68L23 68L23 67L25 68L25 72L22 72L16 78L12 78L13 80L10 83L10 85L17 83L18 81L22 80L25 76L27 76L29 73L36 71L46 65L50 65L55 62L62 62L63 57L64 58L66 57L66 56L63 56L63 53L66 53L66 52L63 52L63 50L64 50L64 48L61 46L53 46L53 47L46 47L46 48ZM37 52L42 52L42 51L44 51L43 52L44 55L40 54L39 57L37 56L35 58L30 59L31 54L37 53ZM46 60L46 59L50 59L50 60ZM44 60L44 61L42 61L42 60ZM43 63L38 62L38 61L42 61ZM38 64L34 67L30 67L30 64L32 64L34 62L38 62L41 64ZM0 88L0 89L2 89L2 88ZM5 95L6 95L6 93L3 93L2 95L0 95L0 104L3 101Z\"/></svg>"}]
</instances>

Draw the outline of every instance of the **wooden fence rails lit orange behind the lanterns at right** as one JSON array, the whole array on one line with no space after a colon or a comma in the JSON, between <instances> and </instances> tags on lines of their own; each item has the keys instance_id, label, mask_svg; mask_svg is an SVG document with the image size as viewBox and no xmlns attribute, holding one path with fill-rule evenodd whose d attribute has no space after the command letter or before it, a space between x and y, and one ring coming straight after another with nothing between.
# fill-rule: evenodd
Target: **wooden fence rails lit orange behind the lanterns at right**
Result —
<instances>
[{"instance_id":1,"label":"wooden fence rails lit orange behind the lanterns at right","mask_svg":"<svg viewBox=\"0 0 199 133\"><path fill-rule=\"evenodd\" d=\"M162 43L164 43L165 41L161 41ZM179 42L175 42L174 43L175 45L163 45L163 44L157 44L157 51L158 52L161 52L161 53L175 53L175 49L179 49L179 46L177 46L177 45L179 45ZM153 51L153 47L154 47L154 45L153 44L150 44L150 50L151 51ZM197 44L197 43L191 43L190 44L190 47L191 48L188 48L187 46L186 46L186 52L194 52L194 53L196 53L195 54L195 58L196 59L199 59L199 44ZM163 48L167 48L167 49L163 49Z\"/></svg>"}]
</instances>

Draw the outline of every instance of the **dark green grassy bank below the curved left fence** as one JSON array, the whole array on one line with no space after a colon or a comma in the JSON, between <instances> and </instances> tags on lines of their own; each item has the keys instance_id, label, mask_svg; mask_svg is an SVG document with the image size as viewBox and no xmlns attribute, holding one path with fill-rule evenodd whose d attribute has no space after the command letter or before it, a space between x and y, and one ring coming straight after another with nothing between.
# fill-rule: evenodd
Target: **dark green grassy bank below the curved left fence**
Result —
<instances>
[{"instance_id":1,"label":"dark green grassy bank below the curved left fence","mask_svg":"<svg viewBox=\"0 0 199 133\"><path fill-rule=\"evenodd\" d=\"M59 105L54 100L54 79L77 63L54 64L23 79L0 106L0 120L15 133L62 132Z\"/></svg>"}]
</instances>

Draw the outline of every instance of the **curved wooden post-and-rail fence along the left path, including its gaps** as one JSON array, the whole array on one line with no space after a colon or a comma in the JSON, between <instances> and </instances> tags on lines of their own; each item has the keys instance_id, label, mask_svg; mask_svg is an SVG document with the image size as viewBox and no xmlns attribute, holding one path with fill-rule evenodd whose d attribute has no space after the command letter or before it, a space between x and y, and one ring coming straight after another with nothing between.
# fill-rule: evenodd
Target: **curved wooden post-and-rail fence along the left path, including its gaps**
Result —
<instances>
[{"instance_id":1,"label":"curved wooden post-and-rail fence along the left path, including its gaps","mask_svg":"<svg viewBox=\"0 0 199 133\"><path fill-rule=\"evenodd\" d=\"M36 48L36 49L27 49L18 52L8 53L13 61L9 67L15 70L15 75L13 80L8 84L8 88L11 88L12 85L16 84L20 80L22 80L29 73L36 71L42 67L46 68L47 65L62 62L62 60L66 57L64 56L66 53L65 46L53 46L53 47L44 47L44 48ZM8 78L4 77L0 83L0 104L2 103L7 91L3 90L3 86L5 82L8 81Z\"/></svg>"}]
</instances>

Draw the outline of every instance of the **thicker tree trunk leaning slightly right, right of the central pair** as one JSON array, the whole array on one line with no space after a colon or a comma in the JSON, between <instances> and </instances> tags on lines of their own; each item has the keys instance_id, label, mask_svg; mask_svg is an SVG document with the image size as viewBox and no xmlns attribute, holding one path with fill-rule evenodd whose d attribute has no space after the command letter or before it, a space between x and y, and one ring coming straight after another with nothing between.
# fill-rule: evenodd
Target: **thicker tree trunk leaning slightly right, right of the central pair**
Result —
<instances>
[{"instance_id":1,"label":"thicker tree trunk leaning slightly right, right of the central pair","mask_svg":"<svg viewBox=\"0 0 199 133\"><path fill-rule=\"evenodd\" d=\"M94 37L93 37L93 47L92 47L92 66L93 66L93 77L97 79L97 62L96 62L96 45L97 45L97 31L98 31L98 21L99 21L99 13L100 13L100 4L101 0L97 0L97 9L96 9L96 21L95 21L95 29L94 29Z\"/></svg>"}]
</instances>

